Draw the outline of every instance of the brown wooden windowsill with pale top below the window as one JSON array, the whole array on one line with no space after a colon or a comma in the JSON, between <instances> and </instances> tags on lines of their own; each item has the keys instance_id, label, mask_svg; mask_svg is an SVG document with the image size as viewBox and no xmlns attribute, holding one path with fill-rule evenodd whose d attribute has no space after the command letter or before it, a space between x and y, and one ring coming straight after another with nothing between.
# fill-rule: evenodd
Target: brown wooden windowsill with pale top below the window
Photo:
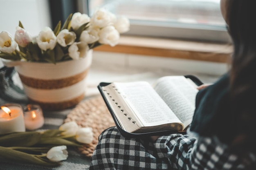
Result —
<instances>
[{"instance_id":1,"label":"brown wooden windowsill with pale top below the window","mask_svg":"<svg viewBox=\"0 0 256 170\"><path fill-rule=\"evenodd\" d=\"M223 43L121 35L116 46L102 45L95 48L94 51L227 63L233 46Z\"/></svg>"}]
</instances>

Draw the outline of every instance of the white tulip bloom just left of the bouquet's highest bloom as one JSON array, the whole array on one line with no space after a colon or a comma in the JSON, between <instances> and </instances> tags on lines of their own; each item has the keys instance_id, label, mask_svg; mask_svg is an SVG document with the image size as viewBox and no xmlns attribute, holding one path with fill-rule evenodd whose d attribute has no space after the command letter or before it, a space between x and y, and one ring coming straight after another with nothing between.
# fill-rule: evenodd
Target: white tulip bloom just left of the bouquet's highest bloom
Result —
<instances>
[{"instance_id":1,"label":"white tulip bloom just left of the bouquet's highest bloom","mask_svg":"<svg viewBox=\"0 0 256 170\"><path fill-rule=\"evenodd\" d=\"M76 12L72 15L70 26L74 30L77 30L81 25L87 22L90 22L90 17L87 14L81 14L80 12Z\"/></svg>"}]
</instances>

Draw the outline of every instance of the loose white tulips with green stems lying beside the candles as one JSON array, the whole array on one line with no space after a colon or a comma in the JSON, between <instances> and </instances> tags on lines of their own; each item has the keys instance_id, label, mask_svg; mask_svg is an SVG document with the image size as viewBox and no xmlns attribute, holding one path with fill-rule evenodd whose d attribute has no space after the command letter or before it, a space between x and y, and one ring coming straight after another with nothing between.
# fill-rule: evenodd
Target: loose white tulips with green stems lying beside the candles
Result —
<instances>
[{"instance_id":1,"label":"loose white tulips with green stems lying beside the candles","mask_svg":"<svg viewBox=\"0 0 256 170\"><path fill-rule=\"evenodd\" d=\"M0 134L0 158L59 166L60 161L67 159L67 146L81 147L92 141L92 128L79 128L75 121L70 121L58 130Z\"/></svg>"}]
</instances>

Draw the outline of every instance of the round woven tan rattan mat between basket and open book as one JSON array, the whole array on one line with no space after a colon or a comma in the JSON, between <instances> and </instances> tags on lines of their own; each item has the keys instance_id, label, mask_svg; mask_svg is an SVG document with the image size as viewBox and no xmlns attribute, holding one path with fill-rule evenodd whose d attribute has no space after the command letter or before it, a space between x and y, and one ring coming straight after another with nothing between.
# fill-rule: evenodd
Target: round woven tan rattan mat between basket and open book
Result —
<instances>
[{"instance_id":1,"label":"round woven tan rattan mat between basket and open book","mask_svg":"<svg viewBox=\"0 0 256 170\"><path fill-rule=\"evenodd\" d=\"M64 122L76 121L80 127L92 127L93 142L84 144L79 148L86 157L92 157L92 152L98 143L98 137L106 128L115 126L115 123L108 111L101 96L80 102L68 115Z\"/></svg>"}]
</instances>

